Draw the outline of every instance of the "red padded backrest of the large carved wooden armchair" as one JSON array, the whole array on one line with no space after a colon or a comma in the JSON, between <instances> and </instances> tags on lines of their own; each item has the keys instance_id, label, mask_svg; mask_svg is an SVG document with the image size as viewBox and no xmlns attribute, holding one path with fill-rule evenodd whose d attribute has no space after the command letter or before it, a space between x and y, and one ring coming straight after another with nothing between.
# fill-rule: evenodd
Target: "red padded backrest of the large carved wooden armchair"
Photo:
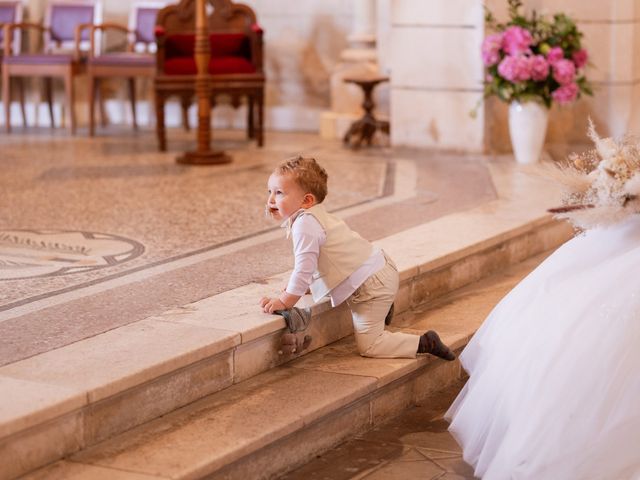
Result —
<instances>
[{"instance_id":1,"label":"red padded backrest of the large carved wooden armchair","mask_svg":"<svg viewBox=\"0 0 640 480\"><path fill-rule=\"evenodd\" d=\"M192 34L174 34L165 41L165 58L193 57L196 38ZM244 33L210 33L212 57L250 58L249 37Z\"/></svg>"}]
</instances>

